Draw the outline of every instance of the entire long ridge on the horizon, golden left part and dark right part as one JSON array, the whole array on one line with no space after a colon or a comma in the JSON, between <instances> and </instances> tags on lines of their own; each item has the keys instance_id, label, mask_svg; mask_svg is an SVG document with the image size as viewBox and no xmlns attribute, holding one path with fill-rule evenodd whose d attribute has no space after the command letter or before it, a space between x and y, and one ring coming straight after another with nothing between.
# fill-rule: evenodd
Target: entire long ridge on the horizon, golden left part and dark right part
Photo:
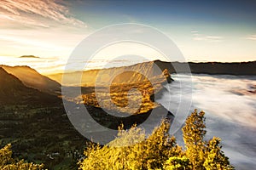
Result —
<instances>
[{"instance_id":1,"label":"entire long ridge on the horizon, golden left part and dark right part","mask_svg":"<svg viewBox=\"0 0 256 170\"><path fill-rule=\"evenodd\" d=\"M154 60L136 65L113 67L102 70L77 71L65 73L63 85L90 86L97 83L106 83L114 79L113 83L142 82L146 78L151 79L162 74L163 71L176 73L175 67L180 69L180 73L188 72L185 68L188 63L166 62ZM256 75L256 61L241 63L194 63L189 62L191 73L195 74L226 74L226 75ZM165 74L164 72L164 74ZM82 78L80 78L82 75ZM63 74L53 74L48 77L56 82L62 83ZM77 80L81 79L81 84ZM171 79L169 81L172 81ZM168 81L168 82L169 82Z\"/></svg>"}]
</instances>

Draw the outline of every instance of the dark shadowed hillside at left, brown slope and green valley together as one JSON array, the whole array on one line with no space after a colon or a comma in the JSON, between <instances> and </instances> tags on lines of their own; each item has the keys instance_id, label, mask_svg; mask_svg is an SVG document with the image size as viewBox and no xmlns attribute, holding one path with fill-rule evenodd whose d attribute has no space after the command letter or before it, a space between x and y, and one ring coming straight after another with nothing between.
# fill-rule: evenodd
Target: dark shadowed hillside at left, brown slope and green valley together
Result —
<instances>
[{"instance_id":1,"label":"dark shadowed hillside at left, brown slope and green valley together","mask_svg":"<svg viewBox=\"0 0 256 170\"><path fill-rule=\"evenodd\" d=\"M82 150L85 139L69 122L61 99L26 87L2 67L0 120L0 146L12 143L15 157L44 162L48 169L61 163L64 169L76 168L78 157L67 154ZM61 154L50 159L56 151Z\"/></svg>"}]
</instances>

